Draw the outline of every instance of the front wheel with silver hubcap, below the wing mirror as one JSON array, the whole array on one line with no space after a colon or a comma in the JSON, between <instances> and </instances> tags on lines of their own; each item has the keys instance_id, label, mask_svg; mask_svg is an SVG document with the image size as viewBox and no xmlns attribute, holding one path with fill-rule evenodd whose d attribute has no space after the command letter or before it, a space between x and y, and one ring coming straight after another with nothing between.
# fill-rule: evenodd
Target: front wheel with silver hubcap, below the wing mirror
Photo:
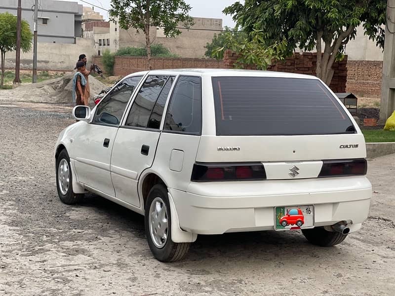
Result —
<instances>
[{"instance_id":1,"label":"front wheel with silver hubcap, below the wing mirror","mask_svg":"<svg viewBox=\"0 0 395 296\"><path fill-rule=\"evenodd\" d=\"M63 149L56 159L56 188L59 199L73 205L81 201L84 194L73 192L73 174L71 172L70 157L66 149Z\"/></svg>"}]
</instances>

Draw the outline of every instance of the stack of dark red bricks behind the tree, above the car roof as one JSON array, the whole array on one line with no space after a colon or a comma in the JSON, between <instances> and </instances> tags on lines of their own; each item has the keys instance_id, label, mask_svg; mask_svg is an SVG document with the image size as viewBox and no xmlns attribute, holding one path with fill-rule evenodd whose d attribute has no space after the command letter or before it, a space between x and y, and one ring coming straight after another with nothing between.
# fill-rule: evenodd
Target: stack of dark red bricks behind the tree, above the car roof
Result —
<instances>
[{"instance_id":1,"label":"stack of dark red bricks behind the tree, above the car roof","mask_svg":"<svg viewBox=\"0 0 395 296\"><path fill-rule=\"evenodd\" d=\"M268 71L278 71L287 73L316 75L316 53L306 52L303 54L295 53L293 56L279 61L269 66ZM227 50L224 55L224 64L226 68L233 68L237 60L237 55ZM334 92L345 92L347 82L347 56L343 61L333 64L332 69L335 71L330 89ZM254 66L247 66L245 69L256 69Z\"/></svg>"}]
</instances>

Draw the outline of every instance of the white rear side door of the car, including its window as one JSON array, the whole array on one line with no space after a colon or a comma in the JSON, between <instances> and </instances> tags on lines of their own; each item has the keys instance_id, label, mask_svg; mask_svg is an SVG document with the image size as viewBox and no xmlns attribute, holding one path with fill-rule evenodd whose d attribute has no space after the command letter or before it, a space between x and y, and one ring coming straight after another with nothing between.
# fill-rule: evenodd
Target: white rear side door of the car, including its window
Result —
<instances>
[{"instance_id":1,"label":"white rear side door of the car, including its window","mask_svg":"<svg viewBox=\"0 0 395 296\"><path fill-rule=\"evenodd\" d=\"M136 207L140 206L138 179L154 161L160 122L173 81L174 76L148 75L115 139L111 157L115 194Z\"/></svg>"}]
</instances>

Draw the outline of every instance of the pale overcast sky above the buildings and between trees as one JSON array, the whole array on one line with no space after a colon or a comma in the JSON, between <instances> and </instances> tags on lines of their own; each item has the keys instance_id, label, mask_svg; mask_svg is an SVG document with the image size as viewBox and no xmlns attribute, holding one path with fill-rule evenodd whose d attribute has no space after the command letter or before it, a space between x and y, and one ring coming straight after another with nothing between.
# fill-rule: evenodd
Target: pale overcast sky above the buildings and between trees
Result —
<instances>
[{"instance_id":1,"label":"pale overcast sky above the buildings and between trees","mask_svg":"<svg viewBox=\"0 0 395 296\"><path fill-rule=\"evenodd\" d=\"M222 10L236 1L237 0L185 0L185 2L192 6L189 13L190 16L220 18L222 19L222 26L228 26L231 28L235 27L235 22L232 20L230 15L223 14ZM78 0L77 2L83 6L92 6L88 4L91 3L105 9L110 9L111 7L111 0ZM244 1L241 0L240 2ZM107 11L97 7L94 7L94 10L100 12L104 19L108 20Z\"/></svg>"}]
</instances>

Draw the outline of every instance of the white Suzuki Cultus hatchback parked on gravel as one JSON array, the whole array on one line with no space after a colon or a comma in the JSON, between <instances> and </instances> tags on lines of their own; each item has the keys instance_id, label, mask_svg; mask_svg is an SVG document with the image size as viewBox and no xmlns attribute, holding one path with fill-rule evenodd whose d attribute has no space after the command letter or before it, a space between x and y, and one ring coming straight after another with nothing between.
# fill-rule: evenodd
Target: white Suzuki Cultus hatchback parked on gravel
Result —
<instances>
[{"instance_id":1,"label":"white Suzuki Cultus hatchback parked on gravel","mask_svg":"<svg viewBox=\"0 0 395 296\"><path fill-rule=\"evenodd\" d=\"M140 72L73 115L55 147L60 199L88 190L144 215L158 260L197 234L301 229L333 246L368 215L364 137L314 76Z\"/></svg>"}]
</instances>

